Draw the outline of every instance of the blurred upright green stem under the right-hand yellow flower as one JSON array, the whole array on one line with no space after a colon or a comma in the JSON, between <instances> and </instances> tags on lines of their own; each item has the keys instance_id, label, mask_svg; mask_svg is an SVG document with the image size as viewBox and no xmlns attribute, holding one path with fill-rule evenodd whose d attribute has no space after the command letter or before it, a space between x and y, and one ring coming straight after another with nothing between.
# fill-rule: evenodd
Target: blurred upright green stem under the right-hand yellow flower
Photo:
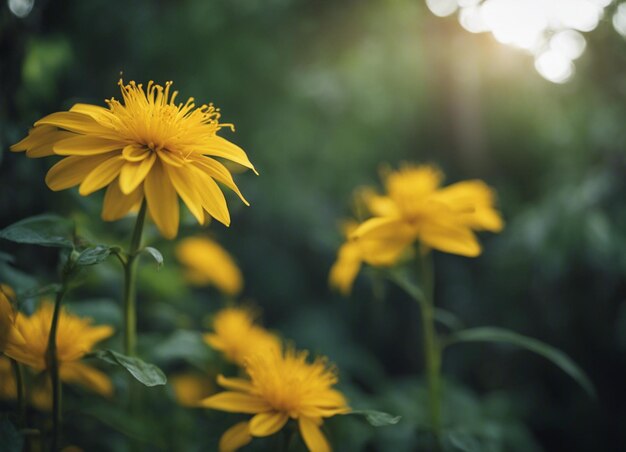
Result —
<instances>
[{"instance_id":1,"label":"blurred upright green stem under the right-hand yellow flower","mask_svg":"<svg viewBox=\"0 0 626 452\"><path fill-rule=\"evenodd\" d=\"M424 288L422 333L428 380L430 422L438 449L441 449L441 344L435 329L434 272L432 252L421 252L421 283Z\"/></svg>"}]
</instances>

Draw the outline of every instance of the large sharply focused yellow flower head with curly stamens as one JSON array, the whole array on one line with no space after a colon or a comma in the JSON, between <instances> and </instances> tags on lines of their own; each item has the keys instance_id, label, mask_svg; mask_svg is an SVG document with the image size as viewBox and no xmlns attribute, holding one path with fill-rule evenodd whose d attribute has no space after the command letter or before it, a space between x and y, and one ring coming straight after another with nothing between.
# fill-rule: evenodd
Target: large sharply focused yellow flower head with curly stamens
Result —
<instances>
[{"instance_id":1,"label":"large sharply focused yellow flower head with curly stamens","mask_svg":"<svg viewBox=\"0 0 626 452\"><path fill-rule=\"evenodd\" d=\"M196 107L194 99L175 103L177 91L120 80L122 102L107 100L108 108L76 104L35 123L29 135L11 146L28 157L65 156L46 176L50 189L80 184L87 196L107 187L102 218L124 217L145 196L148 210L167 238L178 231L182 198L200 224L214 217L225 225L230 214L216 181L239 195L228 169L213 157L225 158L254 170L246 153L217 135L223 127L213 105Z\"/></svg>"}]
</instances>

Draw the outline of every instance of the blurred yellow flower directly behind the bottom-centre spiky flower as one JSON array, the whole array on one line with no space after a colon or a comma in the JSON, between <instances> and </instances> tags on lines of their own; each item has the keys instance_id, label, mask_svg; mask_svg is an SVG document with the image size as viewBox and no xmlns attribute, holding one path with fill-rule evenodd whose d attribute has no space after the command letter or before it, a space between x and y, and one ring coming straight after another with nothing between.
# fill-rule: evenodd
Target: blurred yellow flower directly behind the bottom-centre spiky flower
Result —
<instances>
[{"instance_id":1,"label":"blurred yellow flower directly behind the bottom-centre spiky flower","mask_svg":"<svg viewBox=\"0 0 626 452\"><path fill-rule=\"evenodd\" d=\"M280 350L281 347L276 335L254 323L250 309L222 309L213 319L213 331L204 335L205 342L239 366L243 366L245 359L253 354Z\"/></svg>"}]
</instances>

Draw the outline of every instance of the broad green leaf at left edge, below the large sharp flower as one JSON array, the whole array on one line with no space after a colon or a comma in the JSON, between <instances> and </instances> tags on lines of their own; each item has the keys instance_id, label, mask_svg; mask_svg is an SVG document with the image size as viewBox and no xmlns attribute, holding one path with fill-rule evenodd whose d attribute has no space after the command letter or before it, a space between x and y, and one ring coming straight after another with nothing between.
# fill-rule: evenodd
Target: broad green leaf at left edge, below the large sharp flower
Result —
<instances>
[{"instance_id":1,"label":"broad green leaf at left edge, below the large sharp flower","mask_svg":"<svg viewBox=\"0 0 626 452\"><path fill-rule=\"evenodd\" d=\"M57 248L72 248L73 236L74 223L51 214L26 218L0 231L5 240Z\"/></svg>"}]
</instances>

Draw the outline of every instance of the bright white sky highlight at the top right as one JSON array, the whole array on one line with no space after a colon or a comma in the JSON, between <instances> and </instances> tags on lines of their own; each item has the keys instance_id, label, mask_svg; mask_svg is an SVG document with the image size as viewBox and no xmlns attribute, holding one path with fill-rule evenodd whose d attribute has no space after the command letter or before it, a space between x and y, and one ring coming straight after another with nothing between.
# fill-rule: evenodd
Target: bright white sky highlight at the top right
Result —
<instances>
[{"instance_id":1,"label":"bright white sky highlight at the top right","mask_svg":"<svg viewBox=\"0 0 626 452\"><path fill-rule=\"evenodd\" d=\"M564 83L573 76L573 61L586 47L581 32L595 29L604 15L604 8L611 2L426 0L433 14L449 16L458 11L459 22L467 31L490 32L498 42L531 53L537 72L554 83ZM626 36L626 3L620 5L613 24Z\"/></svg>"}]
</instances>

